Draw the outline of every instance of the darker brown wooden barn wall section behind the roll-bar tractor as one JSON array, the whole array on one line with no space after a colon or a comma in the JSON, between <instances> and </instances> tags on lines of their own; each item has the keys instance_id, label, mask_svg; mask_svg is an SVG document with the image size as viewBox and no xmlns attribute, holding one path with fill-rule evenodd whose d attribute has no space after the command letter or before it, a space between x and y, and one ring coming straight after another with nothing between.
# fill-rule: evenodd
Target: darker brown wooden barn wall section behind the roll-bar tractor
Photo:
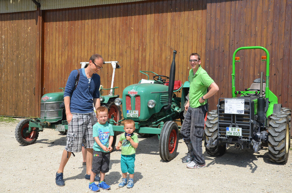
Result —
<instances>
[{"instance_id":1,"label":"darker brown wooden barn wall section behind the roll-bar tractor","mask_svg":"<svg viewBox=\"0 0 292 193\"><path fill-rule=\"evenodd\" d=\"M242 46L263 46L270 54L270 90L283 107L292 108L292 1L208 1L206 17L206 70L219 85L210 100L215 109L219 97L232 97L232 55ZM263 50L237 52L236 90L249 88L266 74Z\"/></svg>"}]
</instances>

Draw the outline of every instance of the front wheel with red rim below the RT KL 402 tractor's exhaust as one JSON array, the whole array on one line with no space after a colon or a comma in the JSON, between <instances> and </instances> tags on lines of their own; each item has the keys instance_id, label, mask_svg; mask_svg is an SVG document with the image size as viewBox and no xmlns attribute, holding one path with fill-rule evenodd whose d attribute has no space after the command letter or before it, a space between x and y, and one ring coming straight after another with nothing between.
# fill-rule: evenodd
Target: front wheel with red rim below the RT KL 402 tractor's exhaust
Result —
<instances>
[{"instance_id":1,"label":"front wheel with red rim below the RT KL 402 tractor's exhaust","mask_svg":"<svg viewBox=\"0 0 292 193\"><path fill-rule=\"evenodd\" d=\"M167 121L161 129L159 138L159 155L164 161L171 161L178 149L178 124Z\"/></svg>"}]
</instances>

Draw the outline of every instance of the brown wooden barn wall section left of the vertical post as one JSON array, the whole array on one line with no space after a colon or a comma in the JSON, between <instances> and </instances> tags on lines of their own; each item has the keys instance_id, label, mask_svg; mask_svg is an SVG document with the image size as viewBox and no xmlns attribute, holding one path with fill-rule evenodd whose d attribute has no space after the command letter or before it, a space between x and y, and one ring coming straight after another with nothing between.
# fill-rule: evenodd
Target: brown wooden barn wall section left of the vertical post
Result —
<instances>
[{"instance_id":1,"label":"brown wooden barn wall section left of the vertical post","mask_svg":"<svg viewBox=\"0 0 292 193\"><path fill-rule=\"evenodd\" d=\"M0 14L0 115L39 113L38 13Z\"/></svg>"}]
</instances>

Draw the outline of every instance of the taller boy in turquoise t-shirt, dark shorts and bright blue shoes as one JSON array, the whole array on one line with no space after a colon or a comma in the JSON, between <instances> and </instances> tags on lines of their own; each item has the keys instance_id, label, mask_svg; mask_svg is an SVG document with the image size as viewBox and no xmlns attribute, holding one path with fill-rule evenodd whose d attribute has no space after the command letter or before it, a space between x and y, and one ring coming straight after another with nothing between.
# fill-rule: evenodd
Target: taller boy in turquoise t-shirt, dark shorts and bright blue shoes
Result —
<instances>
[{"instance_id":1,"label":"taller boy in turquoise t-shirt, dark shorts and bright blue shoes","mask_svg":"<svg viewBox=\"0 0 292 193\"><path fill-rule=\"evenodd\" d=\"M89 189L93 192L98 191L99 188L104 190L110 188L110 186L104 182L104 179L105 173L109 171L109 158L110 152L112 151L112 141L114 139L112 125L107 122L107 108L104 106L98 107L96 109L96 117L99 122L93 125L93 160L89 183ZM96 173L100 173L98 185L94 183Z\"/></svg>"}]
</instances>

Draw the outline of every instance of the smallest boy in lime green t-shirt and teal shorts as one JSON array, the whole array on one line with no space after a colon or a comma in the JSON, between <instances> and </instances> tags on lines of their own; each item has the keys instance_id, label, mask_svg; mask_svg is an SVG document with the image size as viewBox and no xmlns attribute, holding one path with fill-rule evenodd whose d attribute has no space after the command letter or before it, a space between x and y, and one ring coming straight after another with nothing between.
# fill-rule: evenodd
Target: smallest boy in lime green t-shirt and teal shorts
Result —
<instances>
[{"instance_id":1,"label":"smallest boy in lime green t-shirt and teal shorts","mask_svg":"<svg viewBox=\"0 0 292 193\"><path fill-rule=\"evenodd\" d=\"M138 147L138 137L133 132L135 131L135 122L128 119L124 122L125 134L122 134L120 141L116 147L117 150L121 148L121 170L122 170L122 182L119 183L119 187L124 187L127 184L127 188L134 186L134 167L135 167L135 153ZM129 173L129 180L127 181L127 172Z\"/></svg>"}]
</instances>

